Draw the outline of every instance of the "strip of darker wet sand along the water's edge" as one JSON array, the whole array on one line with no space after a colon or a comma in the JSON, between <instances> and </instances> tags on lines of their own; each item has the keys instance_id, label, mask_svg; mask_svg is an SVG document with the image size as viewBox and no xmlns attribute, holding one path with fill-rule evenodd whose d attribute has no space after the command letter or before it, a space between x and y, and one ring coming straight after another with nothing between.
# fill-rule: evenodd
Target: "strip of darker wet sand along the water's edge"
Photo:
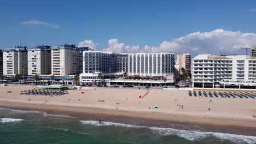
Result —
<instances>
[{"instance_id":1,"label":"strip of darker wet sand along the water's edge","mask_svg":"<svg viewBox=\"0 0 256 144\"><path fill-rule=\"evenodd\" d=\"M186 125L187 129L193 130L195 127L202 127L203 130L218 132L224 131L229 134L238 135L251 135L256 136L256 125L236 125L236 124L225 124L225 123L213 123L214 118L200 118L191 117L193 121L173 121L175 119L168 119L170 117L184 118L183 115L170 115L166 116L166 113L156 113L154 117L148 115L150 113L141 112L131 112L123 110L110 110L110 109L100 109L95 107L77 107L77 106L65 106L66 110L63 110L61 105L52 104L28 104L20 102L10 102L10 101L0 101L0 107L14 110L26 110L26 111L41 111L46 112L51 115L66 115L74 118L79 118L81 120L92 120L97 121L100 118L104 118L104 121L110 120L110 122L119 122L130 124L129 121L143 121L139 123L140 125L149 127L162 127L165 128L166 124L172 125ZM165 118L160 115L164 115ZM179 119L178 118L178 119ZM187 120L190 119L187 117ZM201 122L194 122L195 119L201 119ZM203 119L203 120L202 120ZM224 121L230 121L231 119L222 119ZM236 120L237 121L237 120ZM146 123L145 123L146 122ZM168 128L168 127L167 127ZM177 127L177 129L183 129L184 127Z\"/></svg>"}]
</instances>

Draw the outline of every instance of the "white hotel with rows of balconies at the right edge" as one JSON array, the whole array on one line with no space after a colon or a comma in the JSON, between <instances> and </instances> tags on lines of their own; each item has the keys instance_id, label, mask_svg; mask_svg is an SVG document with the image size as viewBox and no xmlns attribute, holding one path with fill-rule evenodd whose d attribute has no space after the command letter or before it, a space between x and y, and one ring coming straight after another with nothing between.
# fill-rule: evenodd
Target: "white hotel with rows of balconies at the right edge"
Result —
<instances>
[{"instance_id":1,"label":"white hotel with rows of balconies at the right edge","mask_svg":"<svg viewBox=\"0 0 256 144\"><path fill-rule=\"evenodd\" d=\"M256 59L245 55L211 56L193 58L193 87L255 88Z\"/></svg>"}]
</instances>

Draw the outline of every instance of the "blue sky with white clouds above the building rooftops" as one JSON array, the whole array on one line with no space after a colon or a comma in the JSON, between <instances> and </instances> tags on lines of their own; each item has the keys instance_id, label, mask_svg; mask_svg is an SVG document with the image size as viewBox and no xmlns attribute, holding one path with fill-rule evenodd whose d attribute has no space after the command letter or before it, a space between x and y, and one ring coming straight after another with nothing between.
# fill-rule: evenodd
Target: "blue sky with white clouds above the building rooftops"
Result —
<instances>
[{"instance_id":1,"label":"blue sky with white clouds above the building rooftops","mask_svg":"<svg viewBox=\"0 0 256 144\"><path fill-rule=\"evenodd\" d=\"M20 41L32 47L78 45L84 40L91 40L97 50L120 52L220 54L219 50L225 53L230 47L234 49L232 52L237 52L239 45L256 46L256 1L1 0L0 19L1 49L19 45ZM200 32L197 38L177 41L195 32ZM235 36L224 34L228 32ZM218 36L202 41L203 33L218 33ZM244 37L246 33L251 34L250 38ZM232 39L231 42L222 44L223 41L215 39L222 39L223 35L227 40ZM113 45L109 45L110 40ZM211 51L211 47L216 47L216 51Z\"/></svg>"}]
</instances>

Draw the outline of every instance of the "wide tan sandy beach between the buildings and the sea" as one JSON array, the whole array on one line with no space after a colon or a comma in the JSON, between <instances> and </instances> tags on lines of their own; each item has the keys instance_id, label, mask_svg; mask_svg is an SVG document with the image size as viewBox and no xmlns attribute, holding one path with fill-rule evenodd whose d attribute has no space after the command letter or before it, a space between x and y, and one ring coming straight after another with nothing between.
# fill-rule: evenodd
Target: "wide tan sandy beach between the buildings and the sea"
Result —
<instances>
[{"instance_id":1,"label":"wide tan sandy beach between the buildings and the sea","mask_svg":"<svg viewBox=\"0 0 256 144\"><path fill-rule=\"evenodd\" d=\"M20 94L21 91L34 88L36 86L0 86L0 107L256 128L256 118L252 117L256 115L256 99L251 98L199 98L189 97L187 90L149 89L147 91L147 89L134 88L68 90L69 94L59 97ZM7 93L8 91L11 93ZM139 98L140 95L142 98ZM28 99L31 100L28 101ZM104 100L104 102L98 102L98 100ZM152 109L155 105L158 109ZM178 105L183 105L184 109L179 109ZM208 110L209 107L211 110Z\"/></svg>"}]
</instances>

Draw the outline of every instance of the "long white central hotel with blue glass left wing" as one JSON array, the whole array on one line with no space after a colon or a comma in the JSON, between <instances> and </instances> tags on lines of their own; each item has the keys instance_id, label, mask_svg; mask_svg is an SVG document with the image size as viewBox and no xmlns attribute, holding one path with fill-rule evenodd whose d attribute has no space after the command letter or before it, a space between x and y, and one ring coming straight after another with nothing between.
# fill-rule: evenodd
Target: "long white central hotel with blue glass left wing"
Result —
<instances>
[{"instance_id":1,"label":"long white central hotel with blue glass left wing","mask_svg":"<svg viewBox=\"0 0 256 144\"><path fill-rule=\"evenodd\" d=\"M124 78L128 79L129 85L151 82L160 86L162 83L173 83L173 53L84 51L83 56L83 73L80 74L80 83L83 85L122 85ZM123 76L125 72L127 77ZM162 81L162 77L166 77L167 81Z\"/></svg>"}]
</instances>

